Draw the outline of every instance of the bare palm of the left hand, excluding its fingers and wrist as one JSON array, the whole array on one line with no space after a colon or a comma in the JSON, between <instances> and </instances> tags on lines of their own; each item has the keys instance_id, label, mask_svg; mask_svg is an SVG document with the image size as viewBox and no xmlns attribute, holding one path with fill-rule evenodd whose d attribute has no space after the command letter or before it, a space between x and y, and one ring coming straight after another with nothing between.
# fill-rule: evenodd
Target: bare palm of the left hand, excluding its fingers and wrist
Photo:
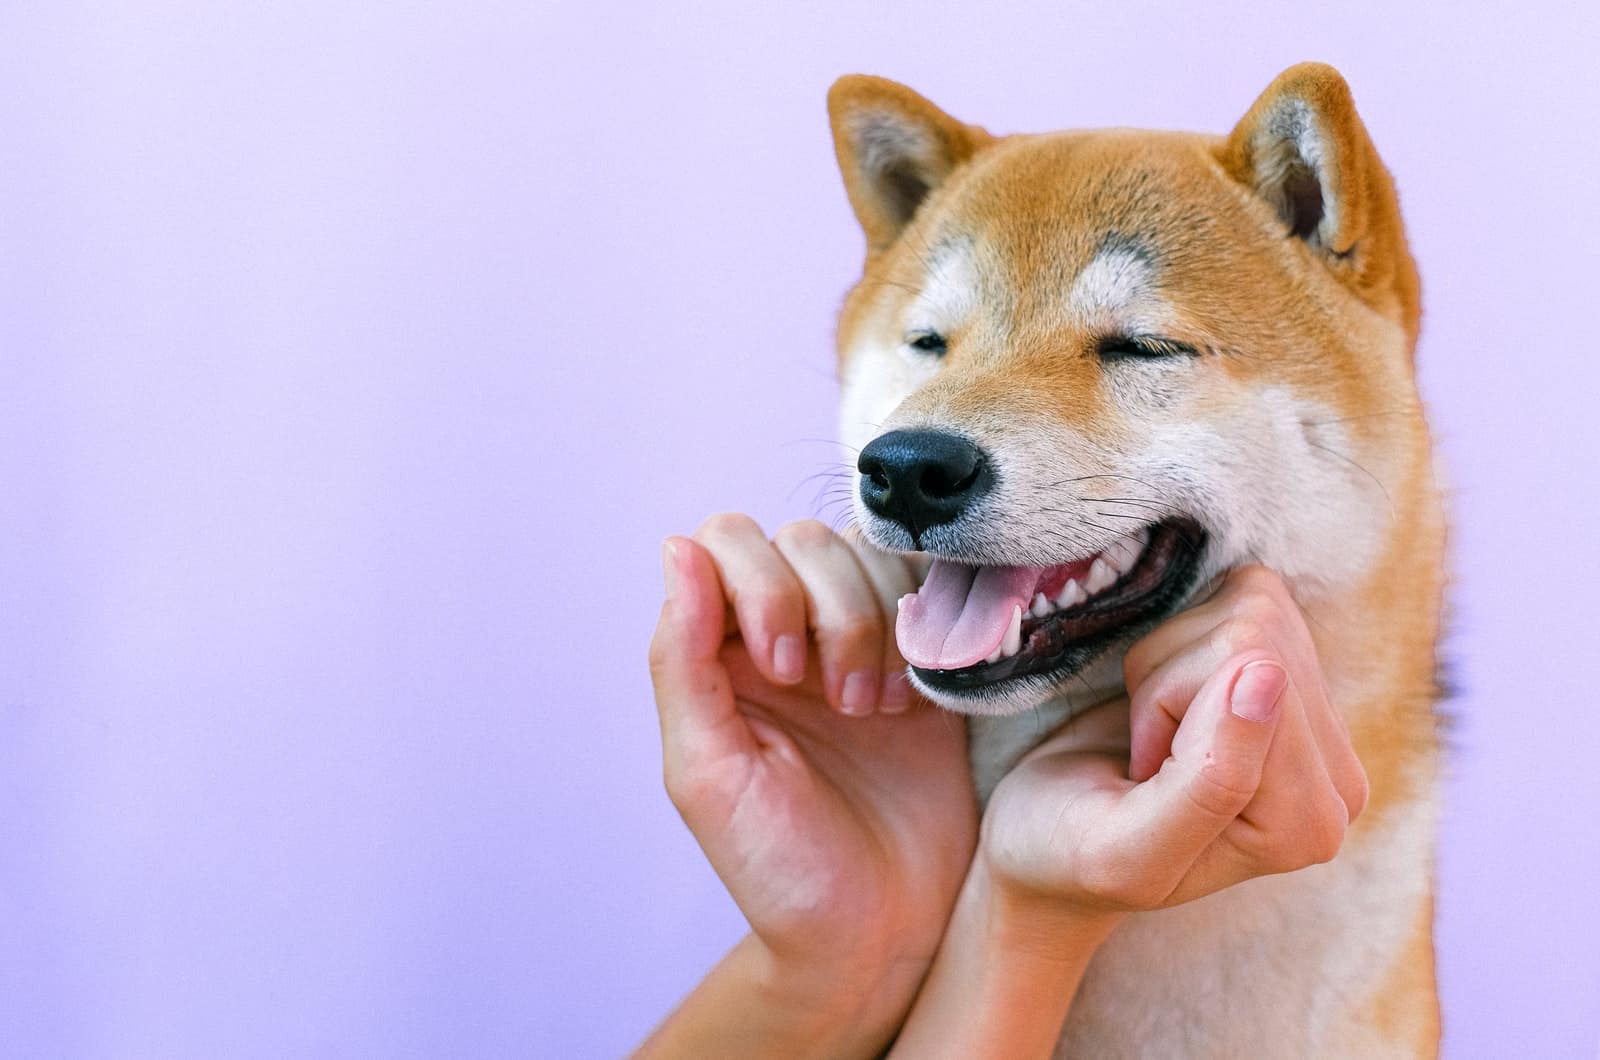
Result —
<instances>
[{"instance_id":1,"label":"bare palm of the left hand, excluding its fingers and wrist","mask_svg":"<svg viewBox=\"0 0 1600 1060\"><path fill-rule=\"evenodd\" d=\"M846 717L814 676L766 682L739 640L722 661L744 733L706 775L723 818L706 845L752 925L773 945L931 954L976 839L962 721Z\"/></svg>"}]
</instances>

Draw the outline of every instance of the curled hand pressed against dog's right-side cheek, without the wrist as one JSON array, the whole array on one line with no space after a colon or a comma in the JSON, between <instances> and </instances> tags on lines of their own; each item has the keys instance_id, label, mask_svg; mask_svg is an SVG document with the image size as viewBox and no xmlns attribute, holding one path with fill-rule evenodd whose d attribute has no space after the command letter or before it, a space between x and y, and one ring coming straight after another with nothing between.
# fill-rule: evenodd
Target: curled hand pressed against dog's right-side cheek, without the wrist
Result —
<instances>
[{"instance_id":1,"label":"curled hand pressed against dog's right-side cheek, without the wrist","mask_svg":"<svg viewBox=\"0 0 1600 1060\"><path fill-rule=\"evenodd\" d=\"M1000 781L982 858L1011 897L1155 909L1331 860L1366 775L1283 581L1235 570L1125 658L1128 698Z\"/></svg>"}]
</instances>

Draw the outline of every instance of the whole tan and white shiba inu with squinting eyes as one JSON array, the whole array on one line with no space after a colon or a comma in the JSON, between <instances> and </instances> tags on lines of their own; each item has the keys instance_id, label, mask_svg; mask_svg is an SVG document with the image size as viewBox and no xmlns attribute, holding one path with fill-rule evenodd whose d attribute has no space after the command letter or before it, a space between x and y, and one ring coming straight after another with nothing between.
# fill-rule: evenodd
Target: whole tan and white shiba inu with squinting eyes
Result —
<instances>
[{"instance_id":1,"label":"whole tan and white shiba inu with squinting eyes","mask_svg":"<svg viewBox=\"0 0 1600 1060\"><path fill-rule=\"evenodd\" d=\"M1346 82L1296 66L1221 138L992 136L872 77L829 109L867 240L856 520L931 559L896 634L971 716L979 791L1242 564L1291 586L1371 783L1331 863L1123 924L1062 1052L1437 1052L1445 527L1418 274Z\"/></svg>"}]
</instances>

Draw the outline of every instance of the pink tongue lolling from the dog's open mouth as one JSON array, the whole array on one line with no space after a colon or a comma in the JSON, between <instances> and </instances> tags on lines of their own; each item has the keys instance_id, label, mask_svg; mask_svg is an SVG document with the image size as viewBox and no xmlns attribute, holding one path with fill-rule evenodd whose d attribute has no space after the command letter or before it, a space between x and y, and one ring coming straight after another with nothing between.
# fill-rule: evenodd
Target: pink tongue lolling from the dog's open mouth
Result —
<instances>
[{"instance_id":1,"label":"pink tongue lolling from the dog's open mouth","mask_svg":"<svg viewBox=\"0 0 1600 1060\"><path fill-rule=\"evenodd\" d=\"M923 669L962 669L1005 640L1013 610L1027 612L1038 567L965 567L933 560L922 589L901 599L894 639L901 655Z\"/></svg>"}]
</instances>

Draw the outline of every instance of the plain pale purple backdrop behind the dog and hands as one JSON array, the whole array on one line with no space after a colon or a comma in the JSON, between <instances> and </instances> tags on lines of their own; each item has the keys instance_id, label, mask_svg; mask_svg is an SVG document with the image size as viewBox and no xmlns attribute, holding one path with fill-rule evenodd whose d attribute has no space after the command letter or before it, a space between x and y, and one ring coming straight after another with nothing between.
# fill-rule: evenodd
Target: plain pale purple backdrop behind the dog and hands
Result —
<instances>
[{"instance_id":1,"label":"plain pale purple backdrop behind the dog and hands","mask_svg":"<svg viewBox=\"0 0 1600 1060\"><path fill-rule=\"evenodd\" d=\"M1594 1055L1592 5L805 6L0 13L0 1052L634 1042L739 932L658 541L835 460L829 82L1222 131L1320 58L1456 488L1450 1052Z\"/></svg>"}]
</instances>

